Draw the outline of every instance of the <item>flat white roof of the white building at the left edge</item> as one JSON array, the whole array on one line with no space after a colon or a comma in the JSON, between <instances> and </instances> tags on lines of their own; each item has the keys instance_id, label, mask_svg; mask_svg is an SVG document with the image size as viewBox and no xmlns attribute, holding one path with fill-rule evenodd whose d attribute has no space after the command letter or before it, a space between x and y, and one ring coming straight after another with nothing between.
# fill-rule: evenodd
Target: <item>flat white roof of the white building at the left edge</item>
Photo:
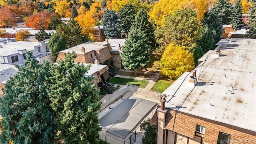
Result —
<instances>
[{"instance_id":1,"label":"flat white roof of the white building at the left edge","mask_svg":"<svg viewBox=\"0 0 256 144\"><path fill-rule=\"evenodd\" d=\"M18 53L17 50L34 50L35 46L40 46L39 42L7 42L0 48L0 56L9 56Z\"/></svg>"}]
</instances>

